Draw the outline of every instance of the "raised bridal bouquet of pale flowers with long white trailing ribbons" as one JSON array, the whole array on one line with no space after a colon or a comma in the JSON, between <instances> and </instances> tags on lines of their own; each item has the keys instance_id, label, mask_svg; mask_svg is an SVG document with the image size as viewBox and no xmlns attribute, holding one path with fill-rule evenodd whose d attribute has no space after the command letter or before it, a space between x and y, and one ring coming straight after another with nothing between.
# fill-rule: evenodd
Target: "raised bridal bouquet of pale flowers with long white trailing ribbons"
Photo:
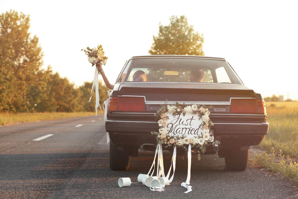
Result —
<instances>
[{"instance_id":1,"label":"raised bridal bouquet of pale flowers with long white trailing ribbons","mask_svg":"<svg viewBox=\"0 0 298 199\"><path fill-rule=\"evenodd\" d=\"M103 51L102 45L98 44L97 47L94 47L92 49L87 47L87 49L81 49L81 51L84 51L85 55L88 55L88 61L92 64L92 66L94 66L94 65L99 66L100 63L105 65L107 63L108 57L105 57L105 52ZM100 74L100 73L98 72L98 69L95 68L94 80L93 80L90 99L89 99L89 102L91 102L92 94L95 89L95 103L96 103L95 104L95 112L96 112L96 115L97 115L97 107L99 107L101 110L101 107L99 105L98 74ZM101 114L103 115L103 113L101 113Z\"/></svg>"}]
</instances>

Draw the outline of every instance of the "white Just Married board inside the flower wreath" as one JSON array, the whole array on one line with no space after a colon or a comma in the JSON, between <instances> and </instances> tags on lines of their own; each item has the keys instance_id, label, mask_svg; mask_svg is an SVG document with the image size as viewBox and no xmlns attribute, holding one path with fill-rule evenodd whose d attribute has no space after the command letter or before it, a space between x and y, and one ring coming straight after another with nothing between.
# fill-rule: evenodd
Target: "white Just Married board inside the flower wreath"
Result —
<instances>
[{"instance_id":1,"label":"white Just Married board inside the flower wreath","mask_svg":"<svg viewBox=\"0 0 298 199\"><path fill-rule=\"evenodd\" d=\"M193 138L201 136L202 133L202 119L199 119L197 114L183 114L167 113L167 130L169 136L182 136Z\"/></svg>"}]
</instances>

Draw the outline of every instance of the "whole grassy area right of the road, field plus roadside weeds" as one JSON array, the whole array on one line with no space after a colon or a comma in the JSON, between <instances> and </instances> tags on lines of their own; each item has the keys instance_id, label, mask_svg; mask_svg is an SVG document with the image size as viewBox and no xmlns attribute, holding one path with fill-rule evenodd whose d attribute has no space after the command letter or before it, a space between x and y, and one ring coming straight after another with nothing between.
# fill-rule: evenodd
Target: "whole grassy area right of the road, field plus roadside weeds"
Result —
<instances>
[{"instance_id":1,"label":"whole grassy area right of the road, field plus roadside weeds","mask_svg":"<svg viewBox=\"0 0 298 199\"><path fill-rule=\"evenodd\" d=\"M298 183L298 163L293 161L298 158L298 102L267 102L266 109L269 133L257 147L270 153L257 153L252 162Z\"/></svg>"}]
</instances>

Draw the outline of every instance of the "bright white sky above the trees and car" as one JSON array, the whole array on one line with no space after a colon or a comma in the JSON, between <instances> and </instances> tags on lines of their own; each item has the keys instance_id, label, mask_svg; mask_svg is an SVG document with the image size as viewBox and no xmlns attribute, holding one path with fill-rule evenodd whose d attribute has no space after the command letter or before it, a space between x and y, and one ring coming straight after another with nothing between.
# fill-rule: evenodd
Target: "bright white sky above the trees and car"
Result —
<instances>
[{"instance_id":1,"label":"bright white sky above the trees and car","mask_svg":"<svg viewBox=\"0 0 298 199\"><path fill-rule=\"evenodd\" d=\"M105 74L114 83L125 61L148 55L158 25L185 15L204 33L206 56L224 57L243 83L263 97L298 99L298 1L14 1L0 13L30 15L44 68L51 65L76 85L92 81L94 68L82 48L103 45ZM296 25L295 25L296 24Z\"/></svg>"}]
</instances>

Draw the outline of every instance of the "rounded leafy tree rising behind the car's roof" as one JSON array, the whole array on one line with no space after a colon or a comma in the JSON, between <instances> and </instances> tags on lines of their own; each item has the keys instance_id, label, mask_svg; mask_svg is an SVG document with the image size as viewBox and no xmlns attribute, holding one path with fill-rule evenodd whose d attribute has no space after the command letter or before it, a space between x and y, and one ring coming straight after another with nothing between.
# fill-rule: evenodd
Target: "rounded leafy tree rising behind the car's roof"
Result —
<instances>
[{"instance_id":1,"label":"rounded leafy tree rising behind the car's roof","mask_svg":"<svg viewBox=\"0 0 298 199\"><path fill-rule=\"evenodd\" d=\"M187 18L171 16L170 24L159 24L158 36L153 35L150 55L201 55L204 56L202 44L203 34L194 31L187 23Z\"/></svg>"}]
</instances>

